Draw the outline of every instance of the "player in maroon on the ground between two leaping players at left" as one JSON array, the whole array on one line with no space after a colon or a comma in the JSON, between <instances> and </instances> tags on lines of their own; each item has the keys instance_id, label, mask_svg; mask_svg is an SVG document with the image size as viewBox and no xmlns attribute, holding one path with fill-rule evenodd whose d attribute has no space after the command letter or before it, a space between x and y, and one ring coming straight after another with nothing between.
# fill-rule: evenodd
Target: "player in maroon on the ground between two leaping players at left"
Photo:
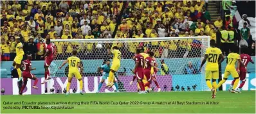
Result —
<instances>
[{"instance_id":1,"label":"player in maroon on the ground between two leaping players at left","mask_svg":"<svg viewBox=\"0 0 256 114\"><path fill-rule=\"evenodd\" d=\"M38 79L37 79L37 77L35 77L35 75L33 75L30 72L31 70L35 70L35 68L32 69L32 63L31 63L30 60L32 60L32 56L28 55L28 59L23 61L23 74L22 74L22 76L23 76L23 86L21 87L21 91L19 92L20 95L23 94L23 90L26 87L26 83L28 82L28 78L34 80L34 83L33 83L32 87L38 89L38 87L35 86L35 85L37 85Z\"/></svg>"}]
</instances>

